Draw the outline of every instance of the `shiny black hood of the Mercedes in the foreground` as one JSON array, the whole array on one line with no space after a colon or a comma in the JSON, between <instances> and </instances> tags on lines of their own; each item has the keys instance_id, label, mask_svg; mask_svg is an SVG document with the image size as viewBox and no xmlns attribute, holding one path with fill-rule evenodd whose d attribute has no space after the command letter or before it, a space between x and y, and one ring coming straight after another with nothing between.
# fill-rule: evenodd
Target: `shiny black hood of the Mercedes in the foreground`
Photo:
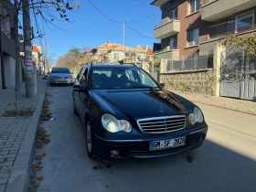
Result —
<instances>
[{"instance_id":1,"label":"shiny black hood of the Mercedes in the foreground","mask_svg":"<svg viewBox=\"0 0 256 192\"><path fill-rule=\"evenodd\" d=\"M116 117L133 117L142 119L174 114L187 114L191 102L178 100L170 91L148 90L93 90L95 100L103 112L110 112ZM188 102L188 105L187 103Z\"/></svg>"}]
</instances>

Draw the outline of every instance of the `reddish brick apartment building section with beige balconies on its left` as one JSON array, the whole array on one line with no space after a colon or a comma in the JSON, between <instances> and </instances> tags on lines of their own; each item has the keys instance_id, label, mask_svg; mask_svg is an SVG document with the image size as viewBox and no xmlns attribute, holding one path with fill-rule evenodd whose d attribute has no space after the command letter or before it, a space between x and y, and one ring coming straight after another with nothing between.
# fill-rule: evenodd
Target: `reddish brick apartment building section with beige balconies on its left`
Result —
<instances>
[{"instance_id":1,"label":"reddish brick apartment building section with beige balconies on its left","mask_svg":"<svg viewBox=\"0 0 256 192\"><path fill-rule=\"evenodd\" d=\"M186 59L199 52L199 43L208 37L208 22L201 19L200 6L208 0L155 0L162 22L155 26L154 37L161 39L157 59Z\"/></svg>"}]
</instances>

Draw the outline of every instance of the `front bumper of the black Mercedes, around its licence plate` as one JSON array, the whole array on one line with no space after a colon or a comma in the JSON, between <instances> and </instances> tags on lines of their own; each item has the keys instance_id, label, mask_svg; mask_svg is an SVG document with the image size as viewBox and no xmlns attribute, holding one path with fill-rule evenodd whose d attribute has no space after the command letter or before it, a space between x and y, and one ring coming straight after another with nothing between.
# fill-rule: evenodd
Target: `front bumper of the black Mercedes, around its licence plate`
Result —
<instances>
[{"instance_id":1,"label":"front bumper of the black Mercedes, around its licence plate","mask_svg":"<svg viewBox=\"0 0 256 192\"><path fill-rule=\"evenodd\" d=\"M186 144L183 146L166 148L163 150L149 150L149 142L155 141L150 140L104 140L99 136L95 136L95 155L103 160L122 160L122 159L133 159L133 158L155 158L167 155L175 155L190 149L197 148L203 144L208 133L208 127L191 130L189 133L180 132L173 137L168 135L165 139L173 139L177 137L186 136ZM111 151L115 150L119 152L119 155L112 155Z\"/></svg>"}]
</instances>

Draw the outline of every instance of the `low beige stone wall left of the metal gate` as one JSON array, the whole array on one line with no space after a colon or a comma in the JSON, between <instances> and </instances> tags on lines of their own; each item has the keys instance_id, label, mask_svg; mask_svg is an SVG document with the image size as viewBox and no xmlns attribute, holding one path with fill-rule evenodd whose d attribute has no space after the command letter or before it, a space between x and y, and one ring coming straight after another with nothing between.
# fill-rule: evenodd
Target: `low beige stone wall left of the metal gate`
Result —
<instances>
[{"instance_id":1,"label":"low beige stone wall left of the metal gate","mask_svg":"<svg viewBox=\"0 0 256 192\"><path fill-rule=\"evenodd\" d=\"M165 89L216 95L216 77L213 69L160 73Z\"/></svg>"}]
</instances>

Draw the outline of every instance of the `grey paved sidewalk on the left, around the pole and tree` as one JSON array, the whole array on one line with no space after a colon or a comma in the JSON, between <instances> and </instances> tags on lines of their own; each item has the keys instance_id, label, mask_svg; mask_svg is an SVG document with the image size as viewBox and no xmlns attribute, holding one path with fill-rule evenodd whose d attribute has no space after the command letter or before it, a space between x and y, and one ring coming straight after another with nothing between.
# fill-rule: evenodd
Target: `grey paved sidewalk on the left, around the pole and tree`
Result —
<instances>
[{"instance_id":1,"label":"grey paved sidewalk on the left, around the pole and tree","mask_svg":"<svg viewBox=\"0 0 256 192\"><path fill-rule=\"evenodd\" d=\"M0 192L5 191L20 146L24 143L27 128L31 126L33 113L39 99L46 92L47 82L48 80L42 80L42 77L37 78L37 97L32 99L26 98L25 83L22 83L21 109L27 109L26 116L12 117L10 112L6 113L6 111L15 110L15 90L0 91Z\"/></svg>"}]
</instances>

